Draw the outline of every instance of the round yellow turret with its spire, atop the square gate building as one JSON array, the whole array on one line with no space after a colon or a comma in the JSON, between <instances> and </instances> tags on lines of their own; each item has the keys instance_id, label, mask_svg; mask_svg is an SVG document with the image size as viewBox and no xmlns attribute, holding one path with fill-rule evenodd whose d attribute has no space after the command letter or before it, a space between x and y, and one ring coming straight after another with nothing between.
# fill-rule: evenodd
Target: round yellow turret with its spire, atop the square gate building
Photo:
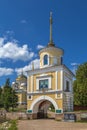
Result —
<instances>
[{"instance_id":1,"label":"round yellow turret with its spire, atop the square gate building","mask_svg":"<svg viewBox=\"0 0 87 130\"><path fill-rule=\"evenodd\" d=\"M50 67L54 65L61 65L64 51L63 49L56 47L52 38L52 12L50 12L50 39L47 46L40 50L40 68Z\"/></svg>"}]
</instances>

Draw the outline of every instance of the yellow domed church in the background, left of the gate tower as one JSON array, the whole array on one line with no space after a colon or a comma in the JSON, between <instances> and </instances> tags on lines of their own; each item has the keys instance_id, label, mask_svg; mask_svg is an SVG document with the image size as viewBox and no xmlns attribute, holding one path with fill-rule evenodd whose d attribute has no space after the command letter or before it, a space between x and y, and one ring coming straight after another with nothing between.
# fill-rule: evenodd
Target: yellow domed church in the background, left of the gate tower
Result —
<instances>
[{"instance_id":1,"label":"yellow domed church in the background, left of the gate tower","mask_svg":"<svg viewBox=\"0 0 87 130\"><path fill-rule=\"evenodd\" d=\"M12 83L12 88L15 90L18 96L18 107L26 108L27 106L27 77L23 72L16 78L16 81Z\"/></svg>"}]
</instances>

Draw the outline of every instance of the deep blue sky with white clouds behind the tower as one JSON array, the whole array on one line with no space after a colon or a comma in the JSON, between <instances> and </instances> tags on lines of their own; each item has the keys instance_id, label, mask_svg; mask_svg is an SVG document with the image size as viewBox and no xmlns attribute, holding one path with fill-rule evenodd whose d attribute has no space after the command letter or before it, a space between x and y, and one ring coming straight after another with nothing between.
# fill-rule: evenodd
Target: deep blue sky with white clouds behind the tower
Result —
<instances>
[{"instance_id":1,"label":"deep blue sky with white clouds behind the tower","mask_svg":"<svg viewBox=\"0 0 87 130\"><path fill-rule=\"evenodd\" d=\"M0 85L39 66L39 49L53 41L64 49L64 64L87 61L87 0L0 0Z\"/></svg>"}]
</instances>

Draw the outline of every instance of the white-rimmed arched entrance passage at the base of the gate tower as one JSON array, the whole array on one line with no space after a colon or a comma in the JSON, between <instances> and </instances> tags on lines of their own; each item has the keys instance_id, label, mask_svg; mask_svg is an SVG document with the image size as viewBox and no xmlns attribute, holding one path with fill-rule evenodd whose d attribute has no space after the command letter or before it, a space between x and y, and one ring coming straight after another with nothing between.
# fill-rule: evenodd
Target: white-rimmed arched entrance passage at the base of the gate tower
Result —
<instances>
[{"instance_id":1,"label":"white-rimmed arched entrance passage at the base of the gate tower","mask_svg":"<svg viewBox=\"0 0 87 130\"><path fill-rule=\"evenodd\" d=\"M47 111L51 104L54 106L56 111L58 109L57 103L51 97L40 96L36 98L30 107L33 118L47 118Z\"/></svg>"}]
</instances>

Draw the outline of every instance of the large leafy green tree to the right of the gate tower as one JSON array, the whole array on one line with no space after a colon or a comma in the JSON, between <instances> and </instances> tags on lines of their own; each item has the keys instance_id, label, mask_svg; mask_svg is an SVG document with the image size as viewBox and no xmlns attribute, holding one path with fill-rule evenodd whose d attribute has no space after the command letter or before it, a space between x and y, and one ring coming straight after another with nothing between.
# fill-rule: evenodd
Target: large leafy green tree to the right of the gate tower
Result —
<instances>
[{"instance_id":1,"label":"large leafy green tree to the right of the gate tower","mask_svg":"<svg viewBox=\"0 0 87 130\"><path fill-rule=\"evenodd\" d=\"M87 106L87 63L80 65L76 71L74 105Z\"/></svg>"}]
</instances>

